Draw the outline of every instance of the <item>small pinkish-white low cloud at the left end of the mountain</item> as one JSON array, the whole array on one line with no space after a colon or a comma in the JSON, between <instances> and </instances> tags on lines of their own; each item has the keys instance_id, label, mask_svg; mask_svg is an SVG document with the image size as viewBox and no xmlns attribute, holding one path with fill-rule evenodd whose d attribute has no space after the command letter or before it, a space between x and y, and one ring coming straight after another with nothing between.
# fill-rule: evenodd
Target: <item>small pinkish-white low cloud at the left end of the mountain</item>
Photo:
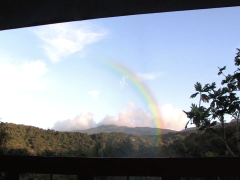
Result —
<instances>
[{"instance_id":1,"label":"small pinkish-white low cloud at the left end of the mountain","mask_svg":"<svg viewBox=\"0 0 240 180\"><path fill-rule=\"evenodd\" d=\"M74 119L57 121L53 125L53 129L58 131L84 130L93 127L96 127L96 123L93 114L89 112L82 112Z\"/></svg>"}]
</instances>

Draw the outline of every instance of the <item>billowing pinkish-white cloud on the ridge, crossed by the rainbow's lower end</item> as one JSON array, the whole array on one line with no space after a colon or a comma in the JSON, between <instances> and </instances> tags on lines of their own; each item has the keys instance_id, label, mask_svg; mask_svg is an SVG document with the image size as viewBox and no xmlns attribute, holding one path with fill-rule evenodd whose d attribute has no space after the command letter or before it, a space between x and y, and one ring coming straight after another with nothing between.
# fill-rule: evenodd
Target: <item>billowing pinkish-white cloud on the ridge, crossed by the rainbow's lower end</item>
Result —
<instances>
[{"instance_id":1,"label":"billowing pinkish-white cloud on the ridge, crossed by the rainbow's lower end","mask_svg":"<svg viewBox=\"0 0 240 180\"><path fill-rule=\"evenodd\" d=\"M141 108L134 109L131 106L132 102L129 102L127 108L119 112L118 117L107 115L98 125L156 127L156 122L149 112L144 112ZM176 131L184 129L187 116L183 111L174 109L171 104L158 108L161 114L160 128Z\"/></svg>"}]
</instances>

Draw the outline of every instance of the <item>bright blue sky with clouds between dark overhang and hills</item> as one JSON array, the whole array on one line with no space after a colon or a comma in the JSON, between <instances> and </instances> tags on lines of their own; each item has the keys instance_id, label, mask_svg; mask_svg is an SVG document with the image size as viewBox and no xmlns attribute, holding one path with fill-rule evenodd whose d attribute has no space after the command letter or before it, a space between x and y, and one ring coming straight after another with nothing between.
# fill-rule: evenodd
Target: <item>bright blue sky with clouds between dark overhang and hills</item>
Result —
<instances>
[{"instance_id":1,"label":"bright blue sky with clouds between dark overhang and hills","mask_svg":"<svg viewBox=\"0 0 240 180\"><path fill-rule=\"evenodd\" d=\"M230 7L0 31L1 121L59 131L182 130L182 110L199 100L190 99L194 84L221 87L218 67L236 70L239 16L240 7ZM128 69L138 86L109 63Z\"/></svg>"}]
</instances>

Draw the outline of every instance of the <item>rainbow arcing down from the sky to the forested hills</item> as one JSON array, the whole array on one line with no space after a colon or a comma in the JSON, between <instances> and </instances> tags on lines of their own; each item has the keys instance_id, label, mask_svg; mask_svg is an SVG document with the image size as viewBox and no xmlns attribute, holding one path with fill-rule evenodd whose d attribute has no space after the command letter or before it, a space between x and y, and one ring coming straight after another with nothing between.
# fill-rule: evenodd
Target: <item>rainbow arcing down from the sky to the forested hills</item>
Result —
<instances>
[{"instance_id":1,"label":"rainbow arcing down from the sky to the forested hills","mask_svg":"<svg viewBox=\"0 0 240 180\"><path fill-rule=\"evenodd\" d=\"M150 92L150 90L147 88L147 86L139 80L139 78L128 68L124 67L123 65L116 63L116 62L102 62L103 64L107 65L111 69L115 70L119 74L126 76L132 85L137 89L138 92L142 95L143 99L146 101L146 103L149 105L150 112L154 118L155 124L157 128L163 128L163 125L161 124L160 119L160 111L158 108L158 104ZM157 132L158 134L158 132ZM160 141L161 137L158 136L158 142Z\"/></svg>"}]
</instances>

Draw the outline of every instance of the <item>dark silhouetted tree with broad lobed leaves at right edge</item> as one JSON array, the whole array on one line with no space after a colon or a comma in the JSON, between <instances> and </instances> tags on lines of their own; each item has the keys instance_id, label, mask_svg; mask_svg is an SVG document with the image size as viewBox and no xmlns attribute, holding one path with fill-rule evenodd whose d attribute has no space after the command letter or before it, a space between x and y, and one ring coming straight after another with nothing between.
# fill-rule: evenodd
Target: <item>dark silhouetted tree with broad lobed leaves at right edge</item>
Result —
<instances>
[{"instance_id":1,"label":"dark silhouetted tree with broad lobed leaves at right edge","mask_svg":"<svg viewBox=\"0 0 240 180\"><path fill-rule=\"evenodd\" d=\"M240 49L237 49L238 53L235 57L235 65L240 65ZM226 69L226 66L223 68L219 68L218 75L224 75L223 71ZM225 75L224 75L225 76ZM239 97L237 97L236 91L240 90L240 69L238 68L234 71L233 75L228 74L225 76L225 79L222 80L222 85L227 84L227 87L219 88L216 90L216 83L212 83L212 85L206 84L204 88L202 85L197 82L195 84L196 93L192 94L190 98L195 98L198 94L200 94L199 106L196 104L191 105L191 110L189 112L184 111L187 114L187 117L190 119L185 128L187 128L189 122L191 124L195 124L198 130L206 131L212 133L214 136L218 137L223 143L225 143L226 148L229 152L236 156L236 154L232 151L232 149L228 145L227 137L226 137L226 129L225 129L225 119L224 116L226 114L232 115L237 121L236 126L236 138L237 138L237 146L238 153L240 153L240 141L239 141ZM210 106L205 108L201 106L201 101L209 103L211 101ZM221 128L220 132L217 132L216 126L217 121L220 121ZM212 121L214 120L214 121Z\"/></svg>"}]
</instances>

